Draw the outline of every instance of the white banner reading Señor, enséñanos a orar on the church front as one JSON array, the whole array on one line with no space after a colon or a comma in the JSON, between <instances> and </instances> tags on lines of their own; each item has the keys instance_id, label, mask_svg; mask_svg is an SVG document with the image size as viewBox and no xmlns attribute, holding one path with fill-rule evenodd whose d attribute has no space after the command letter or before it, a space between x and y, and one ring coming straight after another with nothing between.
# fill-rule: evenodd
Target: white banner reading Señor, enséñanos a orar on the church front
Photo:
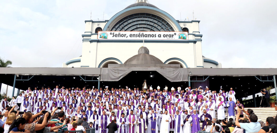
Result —
<instances>
[{"instance_id":1,"label":"white banner reading Se\u00f1or, ens\u00e9\u00f1anos a orar on the church front","mask_svg":"<svg viewBox=\"0 0 277 133\"><path fill-rule=\"evenodd\" d=\"M188 40L188 32L166 31L99 31L98 39Z\"/></svg>"}]
</instances>

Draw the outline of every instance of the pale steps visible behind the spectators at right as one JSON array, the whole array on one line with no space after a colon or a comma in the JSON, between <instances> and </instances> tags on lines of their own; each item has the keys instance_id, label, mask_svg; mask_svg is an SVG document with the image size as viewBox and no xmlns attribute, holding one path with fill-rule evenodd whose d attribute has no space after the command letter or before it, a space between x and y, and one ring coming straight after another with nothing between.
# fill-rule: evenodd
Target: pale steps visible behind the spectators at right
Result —
<instances>
[{"instance_id":1,"label":"pale steps visible behind the spectators at right","mask_svg":"<svg viewBox=\"0 0 277 133\"><path fill-rule=\"evenodd\" d=\"M248 108L244 108L244 109L247 110ZM277 115L277 110L275 110L275 108L268 107L268 108L250 108L250 109L252 109L255 115L258 116L258 121L261 120L265 122L267 117L270 117L270 116L273 117ZM225 117L228 119L228 108L226 108ZM217 112L216 112L216 119L217 119ZM202 129L202 123L200 123L200 127Z\"/></svg>"}]
</instances>

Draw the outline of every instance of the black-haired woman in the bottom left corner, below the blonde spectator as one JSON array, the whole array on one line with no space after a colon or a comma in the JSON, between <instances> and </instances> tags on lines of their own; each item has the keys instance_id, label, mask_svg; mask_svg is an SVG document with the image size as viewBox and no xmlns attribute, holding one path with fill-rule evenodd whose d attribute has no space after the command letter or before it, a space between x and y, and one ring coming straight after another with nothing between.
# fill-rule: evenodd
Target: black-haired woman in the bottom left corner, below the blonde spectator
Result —
<instances>
[{"instance_id":1,"label":"black-haired woman in the bottom left corner, below the blonde spectator","mask_svg":"<svg viewBox=\"0 0 277 133\"><path fill-rule=\"evenodd\" d=\"M30 133L29 130L25 130L26 120L24 118L18 118L14 120L9 128L9 133Z\"/></svg>"}]
</instances>

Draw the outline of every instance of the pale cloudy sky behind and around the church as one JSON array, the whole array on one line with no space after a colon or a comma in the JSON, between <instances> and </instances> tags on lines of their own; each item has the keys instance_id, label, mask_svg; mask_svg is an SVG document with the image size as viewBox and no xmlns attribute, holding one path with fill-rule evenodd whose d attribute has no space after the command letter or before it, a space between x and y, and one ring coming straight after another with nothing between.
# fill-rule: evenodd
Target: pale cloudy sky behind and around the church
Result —
<instances>
[{"instance_id":1,"label":"pale cloudy sky behind and around the church","mask_svg":"<svg viewBox=\"0 0 277 133\"><path fill-rule=\"evenodd\" d=\"M12 67L61 67L81 55L84 20L108 20L135 0L1 1L0 57ZM224 68L276 68L277 1L149 0L176 20L200 20L202 52Z\"/></svg>"}]
</instances>

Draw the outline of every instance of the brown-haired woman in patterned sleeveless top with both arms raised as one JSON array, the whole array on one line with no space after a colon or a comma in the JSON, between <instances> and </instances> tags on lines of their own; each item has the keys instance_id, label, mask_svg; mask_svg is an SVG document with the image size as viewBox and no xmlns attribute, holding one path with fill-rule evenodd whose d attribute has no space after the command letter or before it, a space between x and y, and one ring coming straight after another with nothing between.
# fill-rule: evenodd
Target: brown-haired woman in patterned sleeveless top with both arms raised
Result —
<instances>
[{"instance_id":1,"label":"brown-haired woman in patterned sleeveless top with both arms raised","mask_svg":"<svg viewBox=\"0 0 277 133\"><path fill-rule=\"evenodd\" d=\"M36 124L33 123L34 119L37 118L39 115L43 115L41 110L39 113L32 115L32 113L28 112L28 113L24 113L23 114L23 118L25 118L26 120L26 126L25 126L25 130L29 130L30 133L36 133L36 131L39 131L41 129L43 129L47 123L47 119L44 119L42 121L42 124ZM46 113L43 117L48 117L48 113Z\"/></svg>"}]
</instances>

